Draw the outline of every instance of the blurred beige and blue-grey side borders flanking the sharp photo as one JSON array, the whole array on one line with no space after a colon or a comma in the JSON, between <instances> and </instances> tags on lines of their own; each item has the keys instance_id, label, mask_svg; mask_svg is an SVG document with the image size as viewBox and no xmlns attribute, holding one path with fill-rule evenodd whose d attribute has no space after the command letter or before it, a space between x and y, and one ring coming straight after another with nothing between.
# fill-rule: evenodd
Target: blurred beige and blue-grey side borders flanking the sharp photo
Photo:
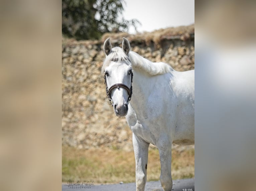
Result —
<instances>
[{"instance_id":1,"label":"blurred beige and blue-grey side borders flanking the sharp photo","mask_svg":"<svg viewBox=\"0 0 256 191\"><path fill-rule=\"evenodd\" d=\"M0 190L60 190L60 1L0 7ZM256 188L255 13L254 1L195 1L199 191Z\"/></svg>"}]
</instances>

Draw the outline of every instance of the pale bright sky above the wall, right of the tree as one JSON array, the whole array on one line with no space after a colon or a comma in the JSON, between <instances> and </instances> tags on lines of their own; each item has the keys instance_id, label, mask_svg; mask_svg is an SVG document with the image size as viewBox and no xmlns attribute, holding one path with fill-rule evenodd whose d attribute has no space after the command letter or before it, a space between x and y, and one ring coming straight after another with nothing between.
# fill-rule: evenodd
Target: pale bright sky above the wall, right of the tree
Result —
<instances>
[{"instance_id":1,"label":"pale bright sky above the wall, right of the tree","mask_svg":"<svg viewBox=\"0 0 256 191\"><path fill-rule=\"evenodd\" d=\"M138 32L195 23L195 0L125 0L123 16L138 19ZM135 33L130 27L129 33Z\"/></svg>"}]
</instances>

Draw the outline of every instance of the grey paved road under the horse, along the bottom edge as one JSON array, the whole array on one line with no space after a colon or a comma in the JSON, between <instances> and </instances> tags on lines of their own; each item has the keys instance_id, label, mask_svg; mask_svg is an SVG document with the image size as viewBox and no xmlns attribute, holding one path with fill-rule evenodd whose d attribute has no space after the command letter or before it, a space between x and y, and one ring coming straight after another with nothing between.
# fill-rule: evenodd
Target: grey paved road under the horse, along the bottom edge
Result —
<instances>
[{"instance_id":1,"label":"grey paved road under the horse, along the bottom edge","mask_svg":"<svg viewBox=\"0 0 256 191\"><path fill-rule=\"evenodd\" d=\"M173 180L173 191L183 191L182 189L192 189L195 191L195 179ZM110 184L110 185L95 185L91 187L69 187L68 184L62 184L62 191L135 191L135 183L127 184ZM162 191L160 181L151 181L146 183L145 191Z\"/></svg>"}]
</instances>

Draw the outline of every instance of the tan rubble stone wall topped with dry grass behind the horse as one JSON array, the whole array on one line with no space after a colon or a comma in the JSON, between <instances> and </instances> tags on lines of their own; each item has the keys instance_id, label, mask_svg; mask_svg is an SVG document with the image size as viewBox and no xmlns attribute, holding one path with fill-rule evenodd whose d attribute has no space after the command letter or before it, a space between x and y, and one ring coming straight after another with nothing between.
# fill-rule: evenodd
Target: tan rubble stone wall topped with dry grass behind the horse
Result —
<instances>
[{"instance_id":1,"label":"tan rubble stone wall topped with dry grass behind the horse","mask_svg":"<svg viewBox=\"0 0 256 191\"><path fill-rule=\"evenodd\" d=\"M131 130L124 117L115 116L106 96L101 75L103 43L110 37L112 47L121 46L122 37L126 37L132 51L152 62L168 63L177 71L194 69L194 25L165 30L106 34L99 41L62 40L63 145L132 150Z\"/></svg>"}]
</instances>

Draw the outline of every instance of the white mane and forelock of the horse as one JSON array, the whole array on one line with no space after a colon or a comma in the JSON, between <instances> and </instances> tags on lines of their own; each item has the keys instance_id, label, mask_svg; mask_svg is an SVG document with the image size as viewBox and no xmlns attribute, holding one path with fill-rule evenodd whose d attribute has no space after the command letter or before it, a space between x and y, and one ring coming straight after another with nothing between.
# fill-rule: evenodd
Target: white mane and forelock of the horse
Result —
<instances>
[{"instance_id":1,"label":"white mane and forelock of the horse","mask_svg":"<svg viewBox=\"0 0 256 191\"><path fill-rule=\"evenodd\" d=\"M124 61L128 65L130 61L132 68L143 70L146 73L148 73L150 76L165 74L173 71L173 69L166 63L163 63L163 62L153 63L133 51L130 51L129 54L126 55L120 47L115 47L115 48L112 48L111 52L104 60L102 70L101 70L102 73L104 72L105 68L109 66L111 61L113 60L117 62Z\"/></svg>"}]
</instances>

